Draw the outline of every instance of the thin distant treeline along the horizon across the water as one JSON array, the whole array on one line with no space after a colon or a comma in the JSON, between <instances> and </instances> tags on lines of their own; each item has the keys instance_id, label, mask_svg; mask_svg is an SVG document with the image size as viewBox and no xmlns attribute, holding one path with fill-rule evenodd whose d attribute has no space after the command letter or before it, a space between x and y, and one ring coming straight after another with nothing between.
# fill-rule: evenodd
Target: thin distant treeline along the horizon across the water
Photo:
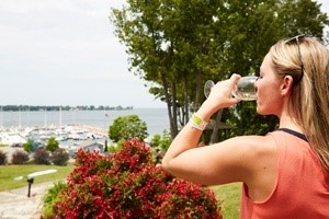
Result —
<instances>
[{"instance_id":1,"label":"thin distant treeline along the horizon across the water","mask_svg":"<svg viewBox=\"0 0 329 219\"><path fill-rule=\"evenodd\" d=\"M3 105L1 111L131 111L133 106L30 106L30 105Z\"/></svg>"}]
</instances>

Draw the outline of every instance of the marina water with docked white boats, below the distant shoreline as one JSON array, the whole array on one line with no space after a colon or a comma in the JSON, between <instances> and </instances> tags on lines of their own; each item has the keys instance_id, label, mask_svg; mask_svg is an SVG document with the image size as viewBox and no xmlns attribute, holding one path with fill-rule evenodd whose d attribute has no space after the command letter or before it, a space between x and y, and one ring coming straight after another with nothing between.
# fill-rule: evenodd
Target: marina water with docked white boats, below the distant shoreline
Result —
<instances>
[{"instance_id":1,"label":"marina water with docked white boats, below the distant shoreline","mask_svg":"<svg viewBox=\"0 0 329 219\"><path fill-rule=\"evenodd\" d=\"M55 138L59 147L76 150L93 141L111 143L109 127L120 116L138 115L147 124L149 138L169 129L166 108L131 111L0 112L0 143L21 147L29 139L42 146Z\"/></svg>"}]
</instances>

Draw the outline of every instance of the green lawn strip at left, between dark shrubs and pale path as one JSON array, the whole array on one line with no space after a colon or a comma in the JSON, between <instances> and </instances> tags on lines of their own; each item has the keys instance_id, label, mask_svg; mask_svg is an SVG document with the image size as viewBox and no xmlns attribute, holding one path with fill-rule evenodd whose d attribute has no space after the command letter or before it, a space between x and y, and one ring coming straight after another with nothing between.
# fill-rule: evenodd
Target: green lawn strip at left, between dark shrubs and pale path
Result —
<instances>
[{"instance_id":1,"label":"green lawn strip at left, between dark shrubs and pale path","mask_svg":"<svg viewBox=\"0 0 329 219\"><path fill-rule=\"evenodd\" d=\"M0 165L0 192L7 189L19 188L27 185L26 175L36 171L45 171L49 169L57 170L56 173L36 176L34 177L34 183L43 182L58 182L67 177L67 175L73 170L73 164L69 163L67 166L58 165ZM21 181L14 181L14 177L24 176Z\"/></svg>"}]
</instances>

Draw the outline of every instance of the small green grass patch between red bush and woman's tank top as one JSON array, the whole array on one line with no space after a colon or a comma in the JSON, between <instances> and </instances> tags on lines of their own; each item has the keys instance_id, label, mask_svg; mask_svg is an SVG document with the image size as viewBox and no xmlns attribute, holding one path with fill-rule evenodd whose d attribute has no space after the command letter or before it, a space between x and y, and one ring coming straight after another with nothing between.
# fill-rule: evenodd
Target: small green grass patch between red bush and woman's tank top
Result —
<instances>
[{"instance_id":1,"label":"small green grass patch between red bush and woman's tank top","mask_svg":"<svg viewBox=\"0 0 329 219\"><path fill-rule=\"evenodd\" d=\"M222 200L222 211L224 219L239 218L241 183L213 186L216 198Z\"/></svg>"}]
</instances>

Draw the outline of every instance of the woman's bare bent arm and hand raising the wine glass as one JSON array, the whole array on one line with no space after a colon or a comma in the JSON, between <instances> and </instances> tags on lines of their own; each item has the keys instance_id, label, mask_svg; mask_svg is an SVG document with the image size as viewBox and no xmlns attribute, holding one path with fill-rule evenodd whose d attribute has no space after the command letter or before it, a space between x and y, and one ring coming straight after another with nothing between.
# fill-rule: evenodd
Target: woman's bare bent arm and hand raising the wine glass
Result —
<instances>
[{"instance_id":1,"label":"woman's bare bent arm and hand raising the wine glass","mask_svg":"<svg viewBox=\"0 0 329 219\"><path fill-rule=\"evenodd\" d=\"M218 82L208 99L195 115L207 122L218 110L239 102L231 97L231 90L239 80L238 74ZM188 124L174 138L162 159L162 166L181 178L205 185L230 182L251 182L257 172L252 165L259 153L259 142L266 143L265 137L238 137L206 147L197 147L202 130Z\"/></svg>"}]
</instances>

